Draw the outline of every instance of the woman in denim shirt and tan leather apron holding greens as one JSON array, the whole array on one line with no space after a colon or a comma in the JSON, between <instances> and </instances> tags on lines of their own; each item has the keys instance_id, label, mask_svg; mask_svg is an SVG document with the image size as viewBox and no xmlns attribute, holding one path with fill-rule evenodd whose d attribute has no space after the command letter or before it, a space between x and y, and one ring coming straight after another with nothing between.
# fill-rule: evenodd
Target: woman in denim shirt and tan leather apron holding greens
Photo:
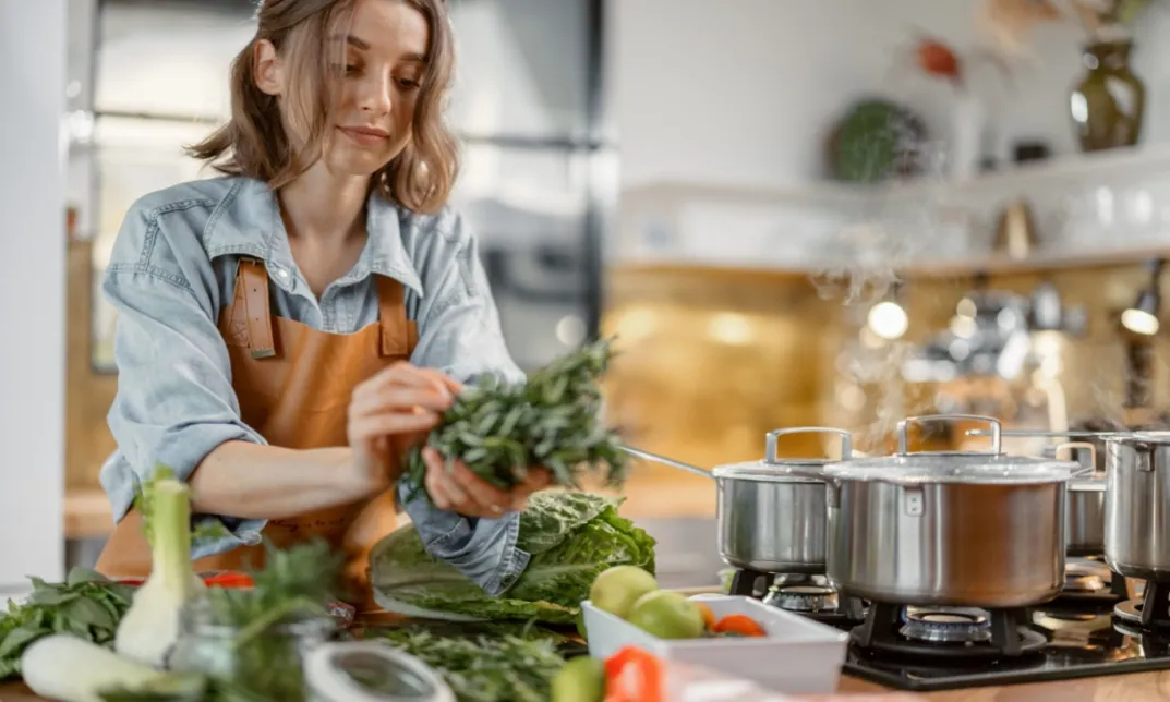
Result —
<instances>
[{"instance_id":1,"label":"woman in denim shirt and tan leather apron holding greens","mask_svg":"<svg viewBox=\"0 0 1170 702\"><path fill-rule=\"evenodd\" d=\"M197 541L197 569L257 563L261 534L318 535L360 585L395 525L406 449L460 381L523 378L475 239L445 206L445 0L266 0L257 20L230 122L192 149L226 176L138 200L104 280L119 311L110 576L150 570L132 498L165 464L197 521L227 526ZM402 500L428 550L503 592L528 559L516 510L548 472L504 493L425 457L426 494Z\"/></svg>"}]
</instances>

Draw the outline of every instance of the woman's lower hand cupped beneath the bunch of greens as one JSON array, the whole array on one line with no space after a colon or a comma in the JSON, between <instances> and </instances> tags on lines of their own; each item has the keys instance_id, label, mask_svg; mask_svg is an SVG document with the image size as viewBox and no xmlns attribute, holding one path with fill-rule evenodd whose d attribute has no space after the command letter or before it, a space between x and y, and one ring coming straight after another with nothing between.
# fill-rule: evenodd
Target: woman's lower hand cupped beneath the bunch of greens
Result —
<instances>
[{"instance_id":1,"label":"woman's lower hand cupped beneath the bunch of greens","mask_svg":"<svg viewBox=\"0 0 1170 702\"><path fill-rule=\"evenodd\" d=\"M459 512L468 517L495 518L508 511L521 511L528 507L532 493L546 488L552 476L544 468L528 472L524 482L511 490L501 490L463 464L455 461L448 472L442 455L432 447L422 449L427 464L426 486L431 501L439 509Z\"/></svg>"}]
</instances>

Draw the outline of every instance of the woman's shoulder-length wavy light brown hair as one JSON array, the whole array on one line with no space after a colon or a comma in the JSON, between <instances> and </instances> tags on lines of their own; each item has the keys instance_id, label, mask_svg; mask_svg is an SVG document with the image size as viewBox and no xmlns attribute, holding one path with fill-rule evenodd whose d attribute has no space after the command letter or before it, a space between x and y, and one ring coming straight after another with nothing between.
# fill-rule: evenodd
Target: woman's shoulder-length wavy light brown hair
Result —
<instances>
[{"instance_id":1,"label":"woman's shoulder-length wavy light brown hair","mask_svg":"<svg viewBox=\"0 0 1170 702\"><path fill-rule=\"evenodd\" d=\"M419 213L433 213L447 201L459 172L459 147L445 121L454 75L454 39L446 0L399 0L418 9L429 27L427 73L414 109L413 133L401 153L373 174L371 186L386 199ZM349 26L355 0L263 0L256 9L256 35L232 61L232 117L202 142L187 147L226 174L247 176L274 190L304 173L321 158L330 115L342 78L330 41ZM297 110L308 125L305 143L294 149L277 98L256 87L256 42L273 43L297 85L285 109Z\"/></svg>"}]
</instances>

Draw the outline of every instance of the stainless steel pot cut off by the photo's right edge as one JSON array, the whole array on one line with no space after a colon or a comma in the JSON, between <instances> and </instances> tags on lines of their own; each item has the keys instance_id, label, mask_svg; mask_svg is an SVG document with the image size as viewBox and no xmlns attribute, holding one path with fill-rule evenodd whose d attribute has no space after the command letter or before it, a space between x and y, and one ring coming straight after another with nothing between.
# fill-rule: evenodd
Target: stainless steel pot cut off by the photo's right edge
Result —
<instances>
[{"instance_id":1,"label":"stainless steel pot cut off by the photo's right edge","mask_svg":"<svg viewBox=\"0 0 1170 702\"><path fill-rule=\"evenodd\" d=\"M1127 578L1170 580L1170 433L1106 439L1104 560Z\"/></svg>"}]
</instances>

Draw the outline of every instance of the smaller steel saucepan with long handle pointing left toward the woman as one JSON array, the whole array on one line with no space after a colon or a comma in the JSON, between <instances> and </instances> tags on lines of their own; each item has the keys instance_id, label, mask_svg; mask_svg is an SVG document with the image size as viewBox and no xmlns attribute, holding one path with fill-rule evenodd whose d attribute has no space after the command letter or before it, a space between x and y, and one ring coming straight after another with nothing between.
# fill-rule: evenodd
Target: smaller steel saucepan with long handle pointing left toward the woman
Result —
<instances>
[{"instance_id":1,"label":"smaller steel saucepan with long handle pointing left toward the woman","mask_svg":"<svg viewBox=\"0 0 1170 702\"><path fill-rule=\"evenodd\" d=\"M783 436L806 433L838 435L840 461L852 457L849 433L825 427L769 432L763 460L720 466L710 473L641 449L624 448L632 455L715 480L718 549L728 565L762 573L824 573L826 490L819 473L830 460L779 457Z\"/></svg>"}]
</instances>

